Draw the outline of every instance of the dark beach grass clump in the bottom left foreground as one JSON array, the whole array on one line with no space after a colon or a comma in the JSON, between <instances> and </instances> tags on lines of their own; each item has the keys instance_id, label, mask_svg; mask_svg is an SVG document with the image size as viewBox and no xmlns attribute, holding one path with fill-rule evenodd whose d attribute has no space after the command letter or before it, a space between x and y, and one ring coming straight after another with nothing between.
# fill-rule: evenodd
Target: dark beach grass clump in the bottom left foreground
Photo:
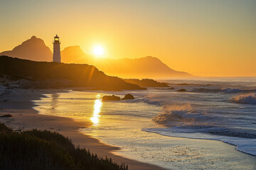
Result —
<instances>
[{"instance_id":1,"label":"dark beach grass clump in the bottom left foreground","mask_svg":"<svg viewBox=\"0 0 256 170\"><path fill-rule=\"evenodd\" d=\"M128 169L75 147L67 137L48 130L15 132L0 123L0 144L1 169Z\"/></svg>"}]
</instances>

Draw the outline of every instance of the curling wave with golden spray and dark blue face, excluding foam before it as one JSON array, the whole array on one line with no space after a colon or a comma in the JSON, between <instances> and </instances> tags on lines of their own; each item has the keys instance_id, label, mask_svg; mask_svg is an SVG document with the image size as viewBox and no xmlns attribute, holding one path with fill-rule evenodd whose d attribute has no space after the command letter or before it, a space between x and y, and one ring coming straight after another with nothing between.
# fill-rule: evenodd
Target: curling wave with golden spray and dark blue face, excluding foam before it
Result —
<instances>
[{"instance_id":1,"label":"curling wave with golden spray and dark blue face, excluding foam before it","mask_svg":"<svg viewBox=\"0 0 256 170\"><path fill-rule=\"evenodd\" d=\"M256 138L255 130L225 127L222 123L223 118L210 116L205 111L195 110L189 103L164 106L162 112L153 120L166 128L171 128L170 132L201 132L228 137Z\"/></svg>"}]
</instances>

